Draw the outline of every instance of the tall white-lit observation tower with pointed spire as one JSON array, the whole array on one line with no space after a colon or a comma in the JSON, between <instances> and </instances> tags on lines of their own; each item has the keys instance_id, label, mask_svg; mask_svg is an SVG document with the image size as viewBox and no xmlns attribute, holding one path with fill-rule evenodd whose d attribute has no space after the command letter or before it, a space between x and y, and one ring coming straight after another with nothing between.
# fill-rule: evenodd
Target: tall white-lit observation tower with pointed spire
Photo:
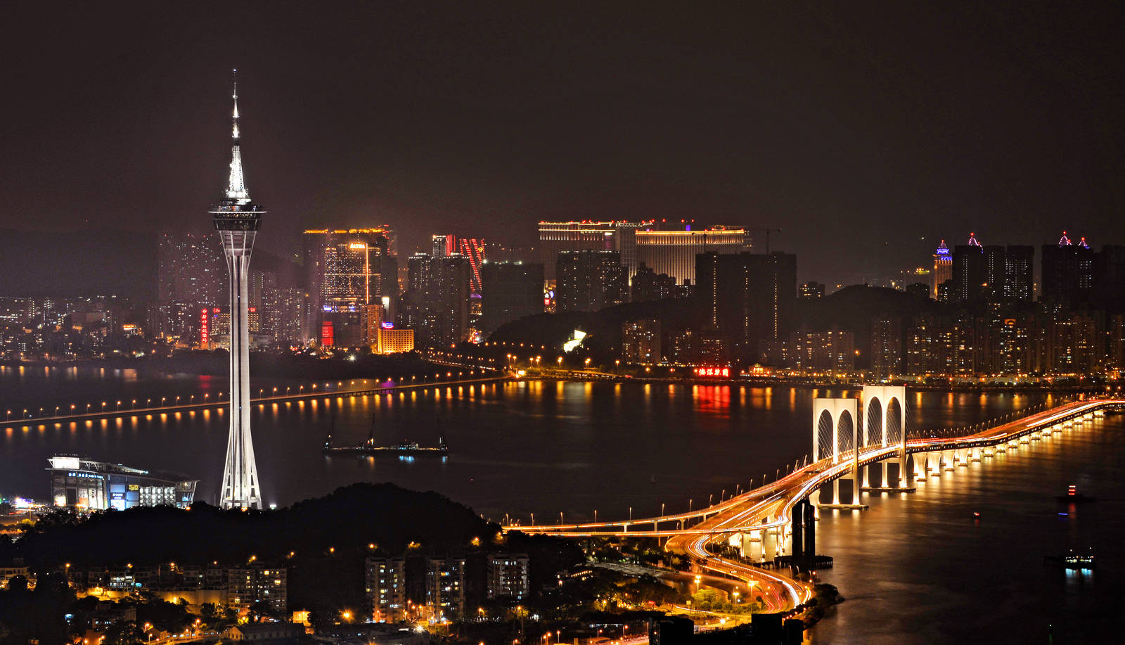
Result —
<instances>
[{"instance_id":1,"label":"tall white-lit observation tower with pointed spire","mask_svg":"<svg viewBox=\"0 0 1125 645\"><path fill-rule=\"evenodd\" d=\"M231 275L231 433L223 467L219 504L225 509L262 505L254 446L250 436L250 254L266 209L250 199L242 174L238 140L238 91L234 86L234 116L231 145L231 177L226 196L212 207L215 230L223 241Z\"/></svg>"}]
</instances>

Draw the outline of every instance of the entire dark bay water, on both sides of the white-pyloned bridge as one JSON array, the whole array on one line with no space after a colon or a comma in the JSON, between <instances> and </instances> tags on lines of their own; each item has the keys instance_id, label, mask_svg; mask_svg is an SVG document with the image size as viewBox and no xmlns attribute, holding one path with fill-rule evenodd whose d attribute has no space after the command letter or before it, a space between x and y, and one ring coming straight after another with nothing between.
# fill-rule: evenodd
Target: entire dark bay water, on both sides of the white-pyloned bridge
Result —
<instances>
[{"instance_id":1,"label":"entire dark bay water, on both sides of the white-pyloned bridge","mask_svg":"<svg viewBox=\"0 0 1125 645\"><path fill-rule=\"evenodd\" d=\"M0 407L62 405L73 400L199 396L223 379L0 370ZM296 386L255 382L254 387ZM816 395L853 394L818 388ZM324 494L357 481L392 481L435 490L485 517L504 513L567 520L686 510L810 451L813 391L721 385L505 383L440 386L379 396L331 394L255 405L252 427L267 502ZM1041 402L1038 394L916 392L912 428L961 427ZM864 513L825 513L822 572L848 601L813 631L818 643L1045 642L1081 608L1119 602L1105 580L1120 580L1113 539L1125 529L1122 418L928 480L911 495L871 500ZM374 422L374 425L372 425ZM1108 428L1107 428L1108 427ZM436 444L430 459L325 458L338 445ZM127 465L189 473L210 500L226 447L223 409L125 415L0 430L0 492L45 498L46 459L78 453ZM873 477L878 481L878 477ZM1102 498L1058 516L1054 495L1077 483ZM1114 489L1118 486L1118 489ZM1116 501L1114 501L1116 500ZM699 504L696 503L696 507ZM980 521L970 518L973 510ZM1063 509L1065 510L1065 509ZM1098 547L1092 575L1042 565L1047 554L1086 543ZM1091 600L1091 598L1094 600ZM1074 622L1071 619L1069 622ZM1065 642L1056 634L1056 643Z\"/></svg>"}]
</instances>

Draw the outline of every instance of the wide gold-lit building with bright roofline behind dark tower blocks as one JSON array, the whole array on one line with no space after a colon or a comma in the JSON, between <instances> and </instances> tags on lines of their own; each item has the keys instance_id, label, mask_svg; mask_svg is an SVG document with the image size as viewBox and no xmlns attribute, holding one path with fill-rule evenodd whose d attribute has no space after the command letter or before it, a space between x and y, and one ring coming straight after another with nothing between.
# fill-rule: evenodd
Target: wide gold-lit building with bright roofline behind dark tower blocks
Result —
<instances>
[{"instance_id":1,"label":"wide gold-lit building with bright roofline behind dark tower blocks","mask_svg":"<svg viewBox=\"0 0 1125 645\"><path fill-rule=\"evenodd\" d=\"M692 230L691 224L638 229L637 262L656 274L672 276L677 283L695 283L695 256L700 253L741 253L750 250L750 235L742 229L714 226ZM630 271L630 276L636 271Z\"/></svg>"}]
</instances>

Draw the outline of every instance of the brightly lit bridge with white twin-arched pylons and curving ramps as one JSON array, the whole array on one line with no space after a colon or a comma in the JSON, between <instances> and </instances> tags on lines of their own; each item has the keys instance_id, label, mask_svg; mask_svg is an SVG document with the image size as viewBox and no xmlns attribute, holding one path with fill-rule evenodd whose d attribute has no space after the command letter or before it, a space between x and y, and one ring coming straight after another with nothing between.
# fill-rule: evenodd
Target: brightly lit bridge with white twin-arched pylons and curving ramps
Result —
<instances>
[{"instance_id":1,"label":"brightly lit bridge with white twin-arched pylons and curving ramps","mask_svg":"<svg viewBox=\"0 0 1125 645\"><path fill-rule=\"evenodd\" d=\"M1050 409L1040 405L1011 413L956 436L945 431L939 436L909 431L904 387L864 386L862 398L813 400L812 460L775 482L686 513L569 525L512 521L504 530L663 539L665 549L688 556L696 572L744 584L744 598L757 593L768 610L785 611L812 599L812 586L793 572L816 566L816 520L821 509L863 510L867 508L862 503L864 492L912 492L914 484L927 477L1065 433L1115 407L1125 407L1125 398L1080 397ZM894 462L898 476L892 485L888 465ZM881 472L879 486L870 483L872 469ZM850 483L852 496L842 503L845 481ZM821 502L821 489L828 484L831 500ZM738 548L741 559L709 548L717 544ZM791 566L770 568L777 563Z\"/></svg>"}]
</instances>

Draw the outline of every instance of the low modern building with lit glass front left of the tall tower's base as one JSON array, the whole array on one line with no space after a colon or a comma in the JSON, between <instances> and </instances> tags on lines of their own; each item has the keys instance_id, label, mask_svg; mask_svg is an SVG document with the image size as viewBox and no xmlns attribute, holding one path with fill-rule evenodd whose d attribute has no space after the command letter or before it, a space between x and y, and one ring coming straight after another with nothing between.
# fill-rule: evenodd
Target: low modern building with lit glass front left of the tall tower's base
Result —
<instances>
[{"instance_id":1,"label":"low modern building with lit glass front left of the tall tower's base","mask_svg":"<svg viewBox=\"0 0 1125 645\"><path fill-rule=\"evenodd\" d=\"M178 473L142 471L73 455L55 455L48 462L54 504L83 511L159 505L186 509L199 483Z\"/></svg>"}]
</instances>

